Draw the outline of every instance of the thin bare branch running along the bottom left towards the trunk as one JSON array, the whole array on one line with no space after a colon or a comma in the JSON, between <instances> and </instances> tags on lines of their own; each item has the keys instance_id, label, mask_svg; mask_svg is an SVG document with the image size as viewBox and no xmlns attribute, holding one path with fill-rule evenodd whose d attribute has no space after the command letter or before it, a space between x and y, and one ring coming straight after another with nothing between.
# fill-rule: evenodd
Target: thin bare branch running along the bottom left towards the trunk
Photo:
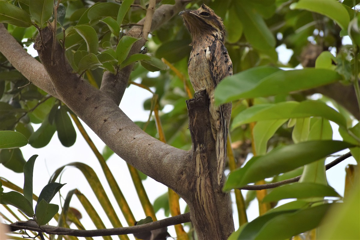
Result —
<instances>
[{"instance_id":1,"label":"thin bare branch running along the bottom left towards the trunk","mask_svg":"<svg viewBox=\"0 0 360 240\"><path fill-rule=\"evenodd\" d=\"M146 223L138 226L105 228L105 229L96 229L96 230L78 230L78 229L57 227L51 225L43 225L39 227L37 226L37 223L33 220L15 222L9 224L8 227L13 231L25 229L25 230L45 232L47 234L55 234L55 235L68 235L68 236L76 236L76 237L96 237L96 236L112 236L112 235L134 234L139 232L148 232L159 228L181 224L185 222L190 222L190 213L184 213L181 215L177 215L175 217L169 217L159 221Z\"/></svg>"}]
</instances>

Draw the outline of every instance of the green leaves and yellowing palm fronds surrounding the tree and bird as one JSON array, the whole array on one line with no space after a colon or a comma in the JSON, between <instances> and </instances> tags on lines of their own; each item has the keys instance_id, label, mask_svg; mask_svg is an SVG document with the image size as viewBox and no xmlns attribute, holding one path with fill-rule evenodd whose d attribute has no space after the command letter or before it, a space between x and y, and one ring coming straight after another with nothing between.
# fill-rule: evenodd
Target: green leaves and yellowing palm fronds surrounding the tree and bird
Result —
<instances>
[{"instance_id":1,"label":"green leaves and yellowing palm fronds surrounding the tree and bird","mask_svg":"<svg viewBox=\"0 0 360 240\"><path fill-rule=\"evenodd\" d=\"M95 87L100 86L104 71L118 73L120 69L135 64L130 83L152 92L153 97L144 102L144 109L154 112L154 117L149 116L148 122L136 124L153 137L163 135L167 144L189 150L191 139L185 100L189 93L193 93L187 87L190 85L186 65L190 35L182 20L174 17L149 36L148 53L144 50L128 56L139 39L126 36L126 32L145 17L144 9L147 8L147 1L139 1L140 7L131 5L133 2L59 1L56 5L58 41L66 48L65 54L74 73L83 75ZM163 0L158 5L174 3ZM234 75L224 79L215 93L217 104L233 101L230 136L239 168L231 171L224 191L269 177L273 177L271 182L284 176L290 178L294 174L291 171L299 168L303 174L299 183L280 186L264 199L258 199L260 204L268 201L274 205L280 199L297 200L267 209L264 215L240 226L230 238L288 239L323 226L323 219L344 210L343 221L325 222L326 226L331 226L333 235L321 236L324 239L356 239L359 231L350 229L346 231L347 235L341 235L341 229L345 221L355 228L360 226L356 222L359 219L354 217L359 216L358 204L355 204L359 202L359 191L349 197L348 202L345 198L345 203L342 203L343 197L327 184L324 163L328 155L349 148L357 161L356 168L359 168L360 131L359 119L356 119L359 114L350 113L339 98L323 96L314 100L307 98L304 91L338 83L343 87L354 86L359 104L360 14L354 7L359 0L344 0L342 3L335 0L204 0L201 3L210 6L224 19L227 30L225 45L234 69ZM192 1L187 7L198 8L201 3ZM0 22L6 23L7 30L22 46L28 47L37 33L54 20L53 9L53 1L1 0ZM352 45L342 44L345 36L350 36ZM278 47L293 52L287 62L279 61ZM4 193L1 187L1 204L13 205L26 216L33 217L39 225L44 225L58 213L59 206L50 204L50 201L64 185L54 181L66 166L53 174L40 193L34 211L32 174L36 156L26 162L19 148L27 143L33 148L46 147L55 132L61 144L69 147L77 137L73 122L80 131L83 128L66 105L29 83L2 54L0 60L0 162L15 172L24 172L23 195L21 188L2 178L2 186L16 191ZM149 71L159 71L159 75L149 77ZM136 79L140 83L135 83ZM173 109L161 112L165 105L172 105ZM157 117L158 111L160 117ZM343 141L333 139L330 121L336 126L333 128L339 129ZM40 123L41 126L34 131L32 125ZM163 132L156 128L159 123ZM82 135L87 136L85 131ZM251 151L245 144L247 140L253 144L253 157L240 168ZM91 140L87 141L91 145ZM127 223L135 225L134 216L105 162L113 152L105 148L102 155L95 147L92 150ZM67 166L82 172L113 227L121 227L118 213L94 170L82 163ZM295 174L293 176L298 175ZM140 179L135 171L134 183L136 176ZM352 179L358 177L352 175ZM138 186L141 188L141 181ZM354 189L359 190L359 181L355 182ZM96 227L104 228L91 201L78 190L68 193L61 215L55 216L59 226L67 226L64 219L69 218L81 228L78 216L69 207L73 195L84 205ZM146 203L147 196L143 197L143 207L148 209L147 215L152 216L140 220L138 225L156 221L153 206ZM328 197L336 197L334 203ZM245 200L252 200L250 198L251 194ZM167 212L169 202L167 196L162 195L154 207L156 210L164 208Z\"/></svg>"}]
</instances>

